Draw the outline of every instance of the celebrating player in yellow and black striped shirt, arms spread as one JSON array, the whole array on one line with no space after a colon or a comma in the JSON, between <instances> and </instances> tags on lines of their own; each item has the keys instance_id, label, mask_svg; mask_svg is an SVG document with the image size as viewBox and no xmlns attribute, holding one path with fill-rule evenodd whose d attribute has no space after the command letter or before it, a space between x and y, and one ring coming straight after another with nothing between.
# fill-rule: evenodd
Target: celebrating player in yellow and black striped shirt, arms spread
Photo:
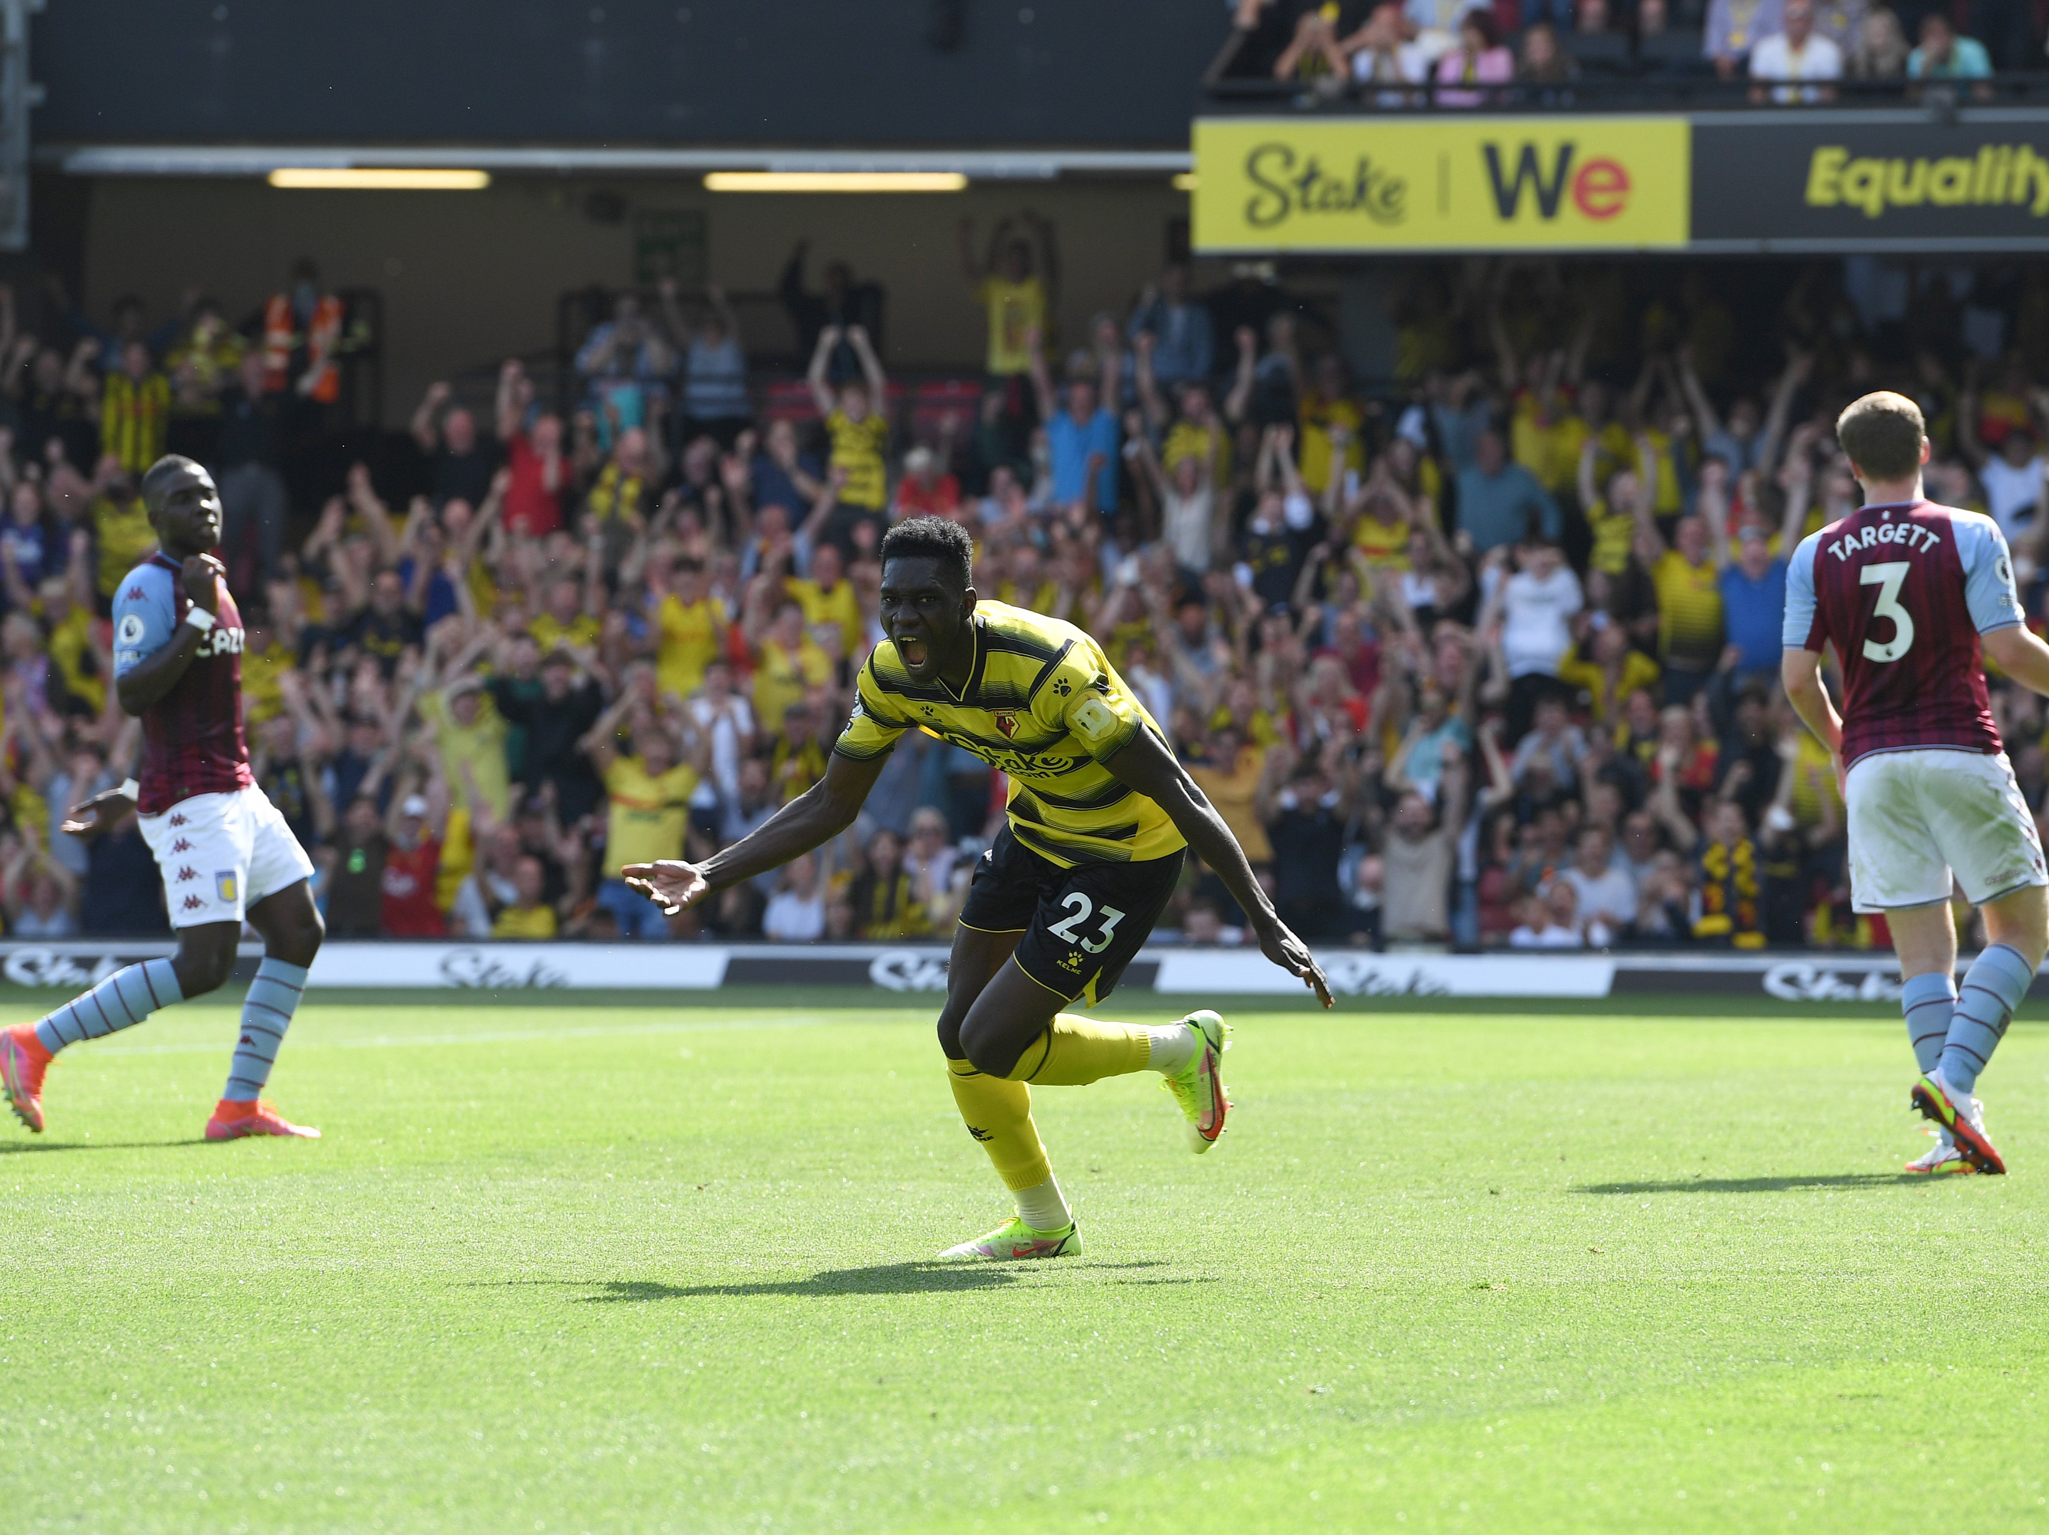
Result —
<instances>
[{"instance_id":1,"label":"celebrating player in yellow and black striped shirt, arms spread","mask_svg":"<svg viewBox=\"0 0 2049 1535\"><path fill-rule=\"evenodd\" d=\"M1229 1098L1229 1029L1211 1010L1145 1027L1068 1008L1100 1002L1145 943L1195 848L1252 918L1260 949L1330 1006L1309 949L1252 877L1223 818L1168 750L1102 648L1061 619L973 588L973 539L936 516L883 537L883 639L826 777L750 836L705 859L627 865L664 910L777 869L854 824L908 730L973 752L1010 779L996 846L975 863L953 935L938 1045L967 1133L990 1154L1016 1215L943 1258L1057 1258L1082 1250L1031 1119L1031 1086L1082 1086L1154 1070L1207 1152Z\"/></svg>"}]
</instances>

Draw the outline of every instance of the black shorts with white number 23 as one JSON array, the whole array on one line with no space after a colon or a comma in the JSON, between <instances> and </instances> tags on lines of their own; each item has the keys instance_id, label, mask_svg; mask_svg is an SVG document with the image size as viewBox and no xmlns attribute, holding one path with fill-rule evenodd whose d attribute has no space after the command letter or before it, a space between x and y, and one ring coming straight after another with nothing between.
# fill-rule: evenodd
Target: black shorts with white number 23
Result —
<instances>
[{"instance_id":1,"label":"black shorts with white number 23","mask_svg":"<svg viewBox=\"0 0 2049 1535\"><path fill-rule=\"evenodd\" d=\"M1010 828L975 859L961 926L1016 932L1018 969L1065 1002L1094 1006L1115 990L1131 957L1180 881L1184 853L1143 863L1061 869L1018 842Z\"/></svg>"}]
</instances>

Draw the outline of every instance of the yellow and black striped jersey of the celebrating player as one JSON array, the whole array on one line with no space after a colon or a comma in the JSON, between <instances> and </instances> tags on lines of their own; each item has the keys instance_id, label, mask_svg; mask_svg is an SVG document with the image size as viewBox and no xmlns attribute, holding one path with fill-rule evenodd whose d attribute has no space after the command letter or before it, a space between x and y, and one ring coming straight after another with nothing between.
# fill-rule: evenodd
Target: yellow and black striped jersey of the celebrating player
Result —
<instances>
[{"instance_id":1,"label":"yellow and black striped jersey of the celebrating player","mask_svg":"<svg viewBox=\"0 0 2049 1535\"><path fill-rule=\"evenodd\" d=\"M1072 623L1008 603L975 603L973 629L975 666L959 695L912 682L895 646L875 646L834 750L867 762L916 725L973 752L1010 775L1018 842L1063 869L1186 846L1160 805L1102 766L1141 730L1162 736L1102 648Z\"/></svg>"}]
</instances>

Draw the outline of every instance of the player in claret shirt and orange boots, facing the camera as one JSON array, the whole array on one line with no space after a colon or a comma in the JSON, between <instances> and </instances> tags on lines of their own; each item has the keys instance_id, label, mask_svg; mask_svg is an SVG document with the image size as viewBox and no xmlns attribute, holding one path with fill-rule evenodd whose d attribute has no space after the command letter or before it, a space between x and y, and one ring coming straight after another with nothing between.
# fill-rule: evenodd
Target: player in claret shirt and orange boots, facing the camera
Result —
<instances>
[{"instance_id":1,"label":"player in claret shirt and orange boots, facing the camera","mask_svg":"<svg viewBox=\"0 0 2049 1535\"><path fill-rule=\"evenodd\" d=\"M246 918L262 935L264 959L207 1139L318 1137L262 1096L322 926L307 885L313 865L256 787L242 742L242 615L211 553L221 496L201 465L172 455L143 475L141 498L158 551L115 594L115 687L121 707L141 717L141 773L76 805L64 830L94 836L139 812L178 953L117 969L47 1019L0 1033L0 1082L14 1117L41 1131L51 1057L219 988Z\"/></svg>"}]
</instances>

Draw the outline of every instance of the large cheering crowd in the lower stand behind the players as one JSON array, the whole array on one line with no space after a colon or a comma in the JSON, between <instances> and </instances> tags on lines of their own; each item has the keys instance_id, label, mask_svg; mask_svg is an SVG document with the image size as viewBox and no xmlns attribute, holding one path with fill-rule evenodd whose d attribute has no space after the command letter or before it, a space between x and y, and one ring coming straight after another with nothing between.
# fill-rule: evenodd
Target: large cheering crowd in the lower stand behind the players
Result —
<instances>
[{"instance_id":1,"label":"large cheering crowd in the lower stand behind the players","mask_svg":"<svg viewBox=\"0 0 2049 1535\"><path fill-rule=\"evenodd\" d=\"M1858 500L1834 412L1891 385L1930 494L1998 518L2043 611L2041 273L1414 262L1367 389L1258 277L1172 266L1055 344L1051 227L963 225L961 260L979 371L891 379L879 291L799 260L801 377L750 369L717 289L664 285L559 393L516 361L471 400L436 383L375 471L336 455L363 439L309 264L246 332L195 301L154 332L45 303L29 334L0 291L8 932L164 928L133 820L57 820L135 762L104 615L168 447L219 480L254 771L336 937L949 935L1004 781L916 732L816 857L674 920L617 877L820 779L877 539L938 514L981 596L1102 641L1320 943L1885 941L1779 691L1785 557ZM1996 699L2041 807L2041 703ZM1190 863L1166 926L1236 943L1242 914Z\"/></svg>"}]
</instances>

